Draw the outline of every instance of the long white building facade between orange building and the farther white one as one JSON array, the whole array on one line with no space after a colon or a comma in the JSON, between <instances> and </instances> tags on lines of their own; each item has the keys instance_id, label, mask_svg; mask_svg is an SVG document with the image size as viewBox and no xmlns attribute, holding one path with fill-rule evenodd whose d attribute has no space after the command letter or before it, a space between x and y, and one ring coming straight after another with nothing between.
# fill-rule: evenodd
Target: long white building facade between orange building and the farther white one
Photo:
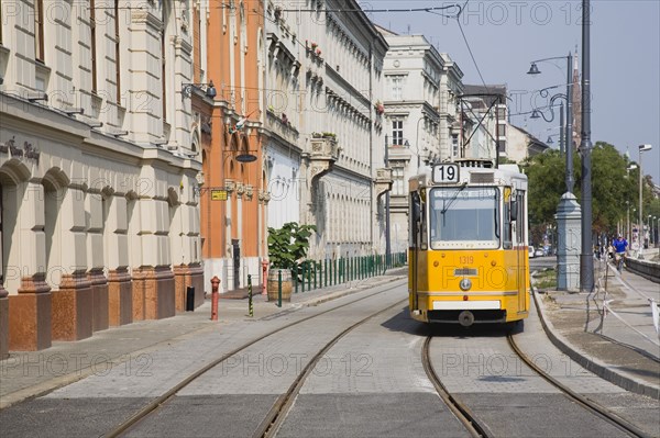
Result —
<instances>
[{"instance_id":1,"label":"long white building facade between orange building and the farther white one","mask_svg":"<svg viewBox=\"0 0 660 438\"><path fill-rule=\"evenodd\" d=\"M337 12L355 1L268 4L268 225L316 225L315 259L384 254L385 40L364 13Z\"/></svg>"}]
</instances>

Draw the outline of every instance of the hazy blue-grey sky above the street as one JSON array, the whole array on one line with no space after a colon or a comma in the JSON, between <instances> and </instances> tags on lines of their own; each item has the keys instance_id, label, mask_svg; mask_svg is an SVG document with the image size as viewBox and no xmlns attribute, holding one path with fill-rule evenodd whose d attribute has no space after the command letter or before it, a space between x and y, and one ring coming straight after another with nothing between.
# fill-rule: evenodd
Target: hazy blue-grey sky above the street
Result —
<instances>
[{"instance_id":1,"label":"hazy blue-grey sky above the street","mask_svg":"<svg viewBox=\"0 0 660 438\"><path fill-rule=\"evenodd\" d=\"M371 0L360 4L369 11L455 3ZM591 9L592 142L614 144L622 153L629 148L634 161L637 146L651 144L653 149L642 155L644 172L660 184L660 0L592 0ZM509 94L515 93L509 102L513 114L531 110L530 91L554 85L561 85L554 92L565 91L565 59L554 66L540 63L538 76L527 71L531 60L566 56L575 48L582 63L581 11L582 1L569 0L468 2L460 20L476 66L487 85L505 83ZM455 19L428 12L369 15L396 33L424 34L458 63L464 83L482 83ZM538 93L536 99L542 104ZM559 132L559 114L551 123L530 120L529 114L513 116L512 123L543 142ZM558 147L558 137L553 141Z\"/></svg>"}]
</instances>

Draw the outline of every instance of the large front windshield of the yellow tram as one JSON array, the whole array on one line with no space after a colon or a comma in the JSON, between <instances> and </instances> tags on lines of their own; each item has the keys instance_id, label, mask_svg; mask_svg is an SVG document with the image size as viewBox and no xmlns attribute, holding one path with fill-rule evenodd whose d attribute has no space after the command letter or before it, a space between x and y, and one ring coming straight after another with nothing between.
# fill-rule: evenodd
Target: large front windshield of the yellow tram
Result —
<instances>
[{"instance_id":1,"label":"large front windshield of the yellow tram","mask_svg":"<svg viewBox=\"0 0 660 438\"><path fill-rule=\"evenodd\" d=\"M498 248L496 188L436 188L430 191L431 249Z\"/></svg>"}]
</instances>

